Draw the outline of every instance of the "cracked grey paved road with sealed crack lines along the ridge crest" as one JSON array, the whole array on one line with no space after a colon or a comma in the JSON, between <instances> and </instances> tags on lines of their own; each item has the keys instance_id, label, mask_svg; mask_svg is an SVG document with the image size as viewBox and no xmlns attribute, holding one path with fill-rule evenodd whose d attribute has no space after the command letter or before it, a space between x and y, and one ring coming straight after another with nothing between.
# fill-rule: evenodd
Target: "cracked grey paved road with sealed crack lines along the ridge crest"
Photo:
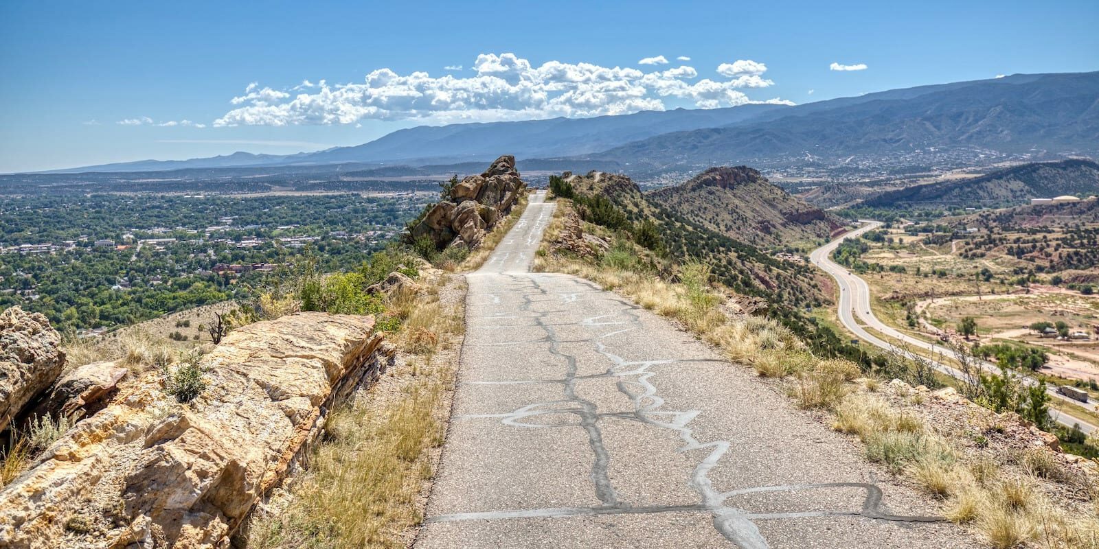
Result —
<instances>
[{"instance_id":1,"label":"cracked grey paved road with sealed crack lines along the ridge crest","mask_svg":"<svg viewBox=\"0 0 1099 549\"><path fill-rule=\"evenodd\" d=\"M974 547L747 368L591 282L529 272L553 208L533 197L468 276L415 547Z\"/></svg>"}]
</instances>

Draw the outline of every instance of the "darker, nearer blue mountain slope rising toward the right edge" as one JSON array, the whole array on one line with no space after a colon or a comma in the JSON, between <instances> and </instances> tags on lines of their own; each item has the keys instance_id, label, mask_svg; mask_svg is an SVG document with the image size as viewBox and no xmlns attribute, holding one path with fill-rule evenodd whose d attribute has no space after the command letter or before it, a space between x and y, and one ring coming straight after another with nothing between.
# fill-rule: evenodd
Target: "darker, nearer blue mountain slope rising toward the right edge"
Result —
<instances>
[{"instance_id":1,"label":"darker, nearer blue mountain slope rising toward the right edge","mask_svg":"<svg viewBox=\"0 0 1099 549\"><path fill-rule=\"evenodd\" d=\"M1094 154L1099 149L1099 72L1013 75L821 101L580 158L662 167L933 147Z\"/></svg>"}]
</instances>

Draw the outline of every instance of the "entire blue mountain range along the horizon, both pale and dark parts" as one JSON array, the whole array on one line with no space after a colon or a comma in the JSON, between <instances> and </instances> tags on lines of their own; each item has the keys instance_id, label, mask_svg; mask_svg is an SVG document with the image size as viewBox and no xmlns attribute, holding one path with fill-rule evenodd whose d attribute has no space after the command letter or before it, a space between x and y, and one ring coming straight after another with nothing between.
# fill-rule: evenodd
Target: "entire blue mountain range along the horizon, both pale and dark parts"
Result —
<instances>
[{"instance_id":1,"label":"entire blue mountain range along the horizon, both pale and dark parts","mask_svg":"<svg viewBox=\"0 0 1099 549\"><path fill-rule=\"evenodd\" d=\"M1099 150L1099 71L1012 75L921 86L801 105L639 112L418 126L373 142L295 155L235 153L191 160L143 160L62 170L155 171L181 168L357 163L423 166L521 159L598 160L624 171L766 159L946 154L965 149L1040 157ZM919 158L911 160L919 164ZM522 163L521 163L522 166Z\"/></svg>"}]
</instances>

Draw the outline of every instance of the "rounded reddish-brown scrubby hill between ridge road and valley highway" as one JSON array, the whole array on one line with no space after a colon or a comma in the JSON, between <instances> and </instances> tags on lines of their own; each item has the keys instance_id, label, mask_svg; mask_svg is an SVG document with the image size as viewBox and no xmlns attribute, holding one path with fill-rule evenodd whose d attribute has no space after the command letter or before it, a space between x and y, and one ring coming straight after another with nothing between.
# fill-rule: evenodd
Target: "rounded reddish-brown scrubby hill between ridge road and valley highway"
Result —
<instances>
[{"instance_id":1,"label":"rounded reddish-brown scrubby hill between ridge road and valley highway","mask_svg":"<svg viewBox=\"0 0 1099 549\"><path fill-rule=\"evenodd\" d=\"M756 246L828 238L839 217L774 186L746 166L710 168L650 199L699 225Z\"/></svg>"}]
</instances>

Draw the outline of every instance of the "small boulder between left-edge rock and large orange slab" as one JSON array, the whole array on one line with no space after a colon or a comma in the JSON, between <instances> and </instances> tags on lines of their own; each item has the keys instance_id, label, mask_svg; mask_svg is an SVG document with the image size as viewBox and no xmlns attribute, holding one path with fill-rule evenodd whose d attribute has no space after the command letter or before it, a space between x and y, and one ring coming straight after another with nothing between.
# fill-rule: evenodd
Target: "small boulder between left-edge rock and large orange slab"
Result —
<instances>
[{"instance_id":1,"label":"small boulder between left-edge rock and large orange slab","mask_svg":"<svg viewBox=\"0 0 1099 549\"><path fill-rule=\"evenodd\" d=\"M63 374L34 408L35 416L87 417L99 412L130 370L114 362L92 362Z\"/></svg>"}]
</instances>

